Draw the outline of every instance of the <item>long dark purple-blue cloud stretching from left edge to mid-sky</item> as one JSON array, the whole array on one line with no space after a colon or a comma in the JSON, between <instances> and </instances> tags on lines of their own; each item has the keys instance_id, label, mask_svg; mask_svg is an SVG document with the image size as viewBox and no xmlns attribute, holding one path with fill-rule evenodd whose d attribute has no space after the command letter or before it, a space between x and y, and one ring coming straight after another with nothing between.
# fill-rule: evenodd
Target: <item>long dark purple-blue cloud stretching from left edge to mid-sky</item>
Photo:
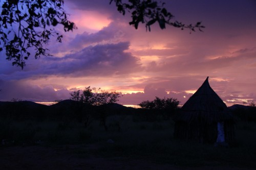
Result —
<instances>
[{"instance_id":1,"label":"long dark purple-blue cloud stretching from left edge to mid-sky","mask_svg":"<svg viewBox=\"0 0 256 170\"><path fill-rule=\"evenodd\" d=\"M114 76L125 75L141 71L143 68L139 58L131 53L124 52L129 49L129 42L117 44L97 44L88 46L81 51L66 55L65 57L46 57L35 65L26 66L26 70L12 73L12 77L2 74L7 80L26 79L44 76Z\"/></svg>"}]
</instances>

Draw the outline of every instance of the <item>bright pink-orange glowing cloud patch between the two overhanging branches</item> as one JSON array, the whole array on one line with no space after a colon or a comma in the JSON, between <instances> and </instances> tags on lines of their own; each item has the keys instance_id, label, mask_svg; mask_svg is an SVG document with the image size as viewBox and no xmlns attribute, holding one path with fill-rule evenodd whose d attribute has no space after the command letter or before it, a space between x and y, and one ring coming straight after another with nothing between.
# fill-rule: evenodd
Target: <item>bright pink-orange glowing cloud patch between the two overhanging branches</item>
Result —
<instances>
[{"instance_id":1,"label":"bright pink-orange glowing cloud patch between the two overhanging branches","mask_svg":"<svg viewBox=\"0 0 256 170\"><path fill-rule=\"evenodd\" d=\"M76 23L79 32L85 30L91 33L101 30L110 24L111 20L108 16L100 14L96 11L82 11L76 10L75 14L71 16L72 21Z\"/></svg>"}]
</instances>

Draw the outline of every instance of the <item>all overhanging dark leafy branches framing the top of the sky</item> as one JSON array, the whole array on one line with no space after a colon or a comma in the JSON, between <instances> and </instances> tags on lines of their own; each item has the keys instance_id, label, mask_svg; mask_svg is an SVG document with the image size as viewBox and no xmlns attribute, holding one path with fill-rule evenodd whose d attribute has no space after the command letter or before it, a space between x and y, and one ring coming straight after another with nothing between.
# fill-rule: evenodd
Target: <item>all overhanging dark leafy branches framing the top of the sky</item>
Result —
<instances>
[{"instance_id":1,"label":"all overhanging dark leafy branches framing the top of the sky","mask_svg":"<svg viewBox=\"0 0 256 170\"><path fill-rule=\"evenodd\" d=\"M125 3L123 3L125 2ZM125 15L130 12L132 21L130 25L138 28L139 23L144 23L146 29L151 31L151 26L159 23L161 29L166 25L176 28L187 28L191 31L204 28L201 22L195 25L184 25L179 21L172 21L173 15L159 3L152 0L110 0L115 3L117 11ZM0 15L0 52L5 51L6 59L12 65L21 67L26 65L26 60L31 53L35 58L49 56L47 44L52 36L61 42L62 35L54 30L57 25L62 25L65 32L76 29L75 23L68 19L67 12L63 9L63 0L6 0L3 2ZM53 27L52 27L53 26ZM35 50L31 52L31 49Z\"/></svg>"}]
</instances>

